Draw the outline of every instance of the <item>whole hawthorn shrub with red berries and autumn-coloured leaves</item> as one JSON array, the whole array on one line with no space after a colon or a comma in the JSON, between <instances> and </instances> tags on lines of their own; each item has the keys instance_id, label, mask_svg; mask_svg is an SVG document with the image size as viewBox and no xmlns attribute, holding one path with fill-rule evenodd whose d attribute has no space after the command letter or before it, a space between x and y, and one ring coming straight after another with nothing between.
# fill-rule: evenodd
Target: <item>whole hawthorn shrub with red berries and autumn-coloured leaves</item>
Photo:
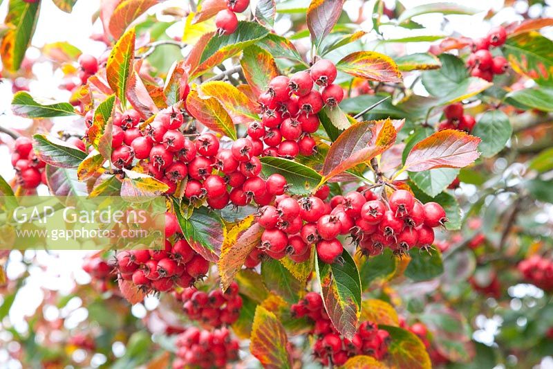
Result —
<instances>
[{"instance_id":1,"label":"whole hawthorn shrub with red berries and autumn-coloured leaves","mask_svg":"<svg viewBox=\"0 0 553 369\"><path fill-rule=\"evenodd\" d=\"M44 192L162 198L165 231L86 255L90 281L45 289L26 328L11 312L39 251L28 273L0 269L1 358L523 368L553 352L553 19L485 17L469 38L425 29L427 14L484 17L460 1L102 1L103 53L55 42L33 60L37 21L55 19L42 2L6 1L0 33L0 239ZM33 63L63 76L66 101L31 90Z\"/></svg>"}]
</instances>

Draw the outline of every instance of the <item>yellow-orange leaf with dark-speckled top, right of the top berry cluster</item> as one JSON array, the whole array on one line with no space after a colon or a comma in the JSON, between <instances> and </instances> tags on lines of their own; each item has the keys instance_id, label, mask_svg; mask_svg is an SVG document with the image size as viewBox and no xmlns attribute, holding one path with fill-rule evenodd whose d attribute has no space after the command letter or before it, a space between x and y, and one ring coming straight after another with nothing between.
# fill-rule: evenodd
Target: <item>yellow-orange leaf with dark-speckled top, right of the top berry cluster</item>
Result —
<instances>
[{"instance_id":1,"label":"yellow-orange leaf with dark-speckled top, right of the top berry cluster","mask_svg":"<svg viewBox=\"0 0 553 369\"><path fill-rule=\"evenodd\" d=\"M346 55L336 64L336 68L366 80L402 82L402 73L392 58L374 51L356 51Z\"/></svg>"}]
</instances>

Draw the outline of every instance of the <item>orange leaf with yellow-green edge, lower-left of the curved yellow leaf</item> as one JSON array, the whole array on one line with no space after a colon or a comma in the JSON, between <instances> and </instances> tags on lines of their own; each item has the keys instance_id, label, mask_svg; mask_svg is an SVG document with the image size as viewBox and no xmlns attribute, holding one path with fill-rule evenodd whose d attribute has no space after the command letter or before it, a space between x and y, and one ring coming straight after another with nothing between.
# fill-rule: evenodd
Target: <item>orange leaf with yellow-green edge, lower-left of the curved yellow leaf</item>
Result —
<instances>
[{"instance_id":1,"label":"orange leaf with yellow-green edge, lower-left of the curved yellow leaf","mask_svg":"<svg viewBox=\"0 0 553 369\"><path fill-rule=\"evenodd\" d=\"M198 91L192 90L186 99L186 106L191 116L200 123L212 131L236 140L236 129L232 118L216 98L203 98Z\"/></svg>"}]
</instances>

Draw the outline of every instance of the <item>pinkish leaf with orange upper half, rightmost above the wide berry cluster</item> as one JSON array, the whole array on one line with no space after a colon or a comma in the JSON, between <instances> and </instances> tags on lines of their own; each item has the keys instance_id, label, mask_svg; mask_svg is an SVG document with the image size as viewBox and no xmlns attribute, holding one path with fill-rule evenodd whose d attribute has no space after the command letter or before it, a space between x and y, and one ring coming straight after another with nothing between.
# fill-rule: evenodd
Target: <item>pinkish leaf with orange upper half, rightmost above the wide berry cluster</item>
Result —
<instances>
[{"instance_id":1,"label":"pinkish leaf with orange upper half, rightmost above the wide berry cluster","mask_svg":"<svg viewBox=\"0 0 553 369\"><path fill-rule=\"evenodd\" d=\"M404 169L422 172L433 168L462 168L480 156L480 138L458 131L444 129L417 143L407 155Z\"/></svg>"}]
</instances>

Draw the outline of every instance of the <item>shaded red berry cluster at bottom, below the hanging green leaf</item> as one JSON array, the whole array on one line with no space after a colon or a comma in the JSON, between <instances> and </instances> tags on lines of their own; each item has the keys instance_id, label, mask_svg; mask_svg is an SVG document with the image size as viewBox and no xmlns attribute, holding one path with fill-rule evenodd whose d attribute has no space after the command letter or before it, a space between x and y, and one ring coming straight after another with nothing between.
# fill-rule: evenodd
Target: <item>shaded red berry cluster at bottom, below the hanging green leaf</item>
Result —
<instances>
[{"instance_id":1,"label":"shaded red berry cluster at bottom, below the hanging green leaf","mask_svg":"<svg viewBox=\"0 0 553 369\"><path fill-rule=\"evenodd\" d=\"M299 303L292 305L291 311L295 318L307 316L314 323L310 334L318 338L313 345L313 352L324 366L329 363L342 366L355 355L370 355L382 360L388 352L390 334L379 330L375 323L361 323L351 340L341 336L328 318L323 300L316 292L308 292Z\"/></svg>"}]
</instances>

